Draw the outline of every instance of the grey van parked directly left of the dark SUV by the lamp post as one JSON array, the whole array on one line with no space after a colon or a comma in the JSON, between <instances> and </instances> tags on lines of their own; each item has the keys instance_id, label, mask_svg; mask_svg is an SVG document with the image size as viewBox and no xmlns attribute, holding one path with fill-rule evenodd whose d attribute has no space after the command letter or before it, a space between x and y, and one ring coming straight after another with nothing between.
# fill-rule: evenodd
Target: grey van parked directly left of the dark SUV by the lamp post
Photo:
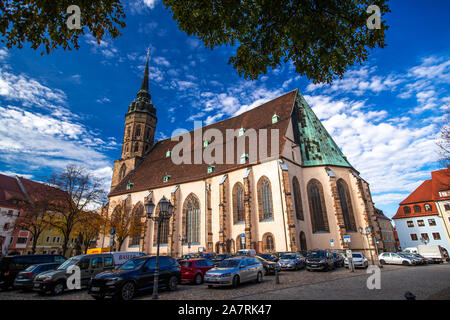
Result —
<instances>
[{"instance_id":1,"label":"grey van parked directly left of the dark SUV by the lamp post","mask_svg":"<svg viewBox=\"0 0 450 320\"><path fill-rule=\"evenodd\" d=\"M81 287L87 287L91 277L105 271L114 269L114 259L110 253L86 254L74 256L66 260L56 270L47 271L38 275L33 281L33 290L39 294L52 293L59 295L68 290L67 279L71 275L70 266L80 268Z\"/></svg>"}]
</instances>

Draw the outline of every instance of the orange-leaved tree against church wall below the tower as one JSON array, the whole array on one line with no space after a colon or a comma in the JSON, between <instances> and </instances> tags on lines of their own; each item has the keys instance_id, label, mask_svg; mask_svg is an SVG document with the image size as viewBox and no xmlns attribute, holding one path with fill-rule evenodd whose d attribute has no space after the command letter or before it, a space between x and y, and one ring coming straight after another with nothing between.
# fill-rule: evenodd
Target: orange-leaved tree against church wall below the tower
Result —
<instances>
[{"instance_id":1,"label":"orange-leaved tree against church wall below the tower","mask_svg":"<svg viewBox=\"0 0 450 320\"><path fill-rule=\"evenodd\" d=\"M112 205L110 225L114 228L117 250L121 250L127 238L140 238L143 233L142 210L132 208L130 199L115 202Z\"/></svg>"}]
</instances>

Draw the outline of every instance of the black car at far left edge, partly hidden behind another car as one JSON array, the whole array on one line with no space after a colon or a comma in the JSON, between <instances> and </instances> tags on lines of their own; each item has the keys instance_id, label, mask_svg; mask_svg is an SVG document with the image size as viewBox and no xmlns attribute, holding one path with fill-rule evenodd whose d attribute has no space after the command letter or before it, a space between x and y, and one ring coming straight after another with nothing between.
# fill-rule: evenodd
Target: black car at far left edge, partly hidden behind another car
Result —
<instances>
[{"instance_id":1,"label":"black car at far left edge, partly hidden behind another car","mask_svg":"<svg viewBox=\"0 0 450 320\"><path fill-rule=\"evenodd\" d=\"M0 289L6 290L13 286L18 273L31 265L64 261L66 258L63 256L51 254L3 256L0 258Z\"/></svg>"}]
</instances>

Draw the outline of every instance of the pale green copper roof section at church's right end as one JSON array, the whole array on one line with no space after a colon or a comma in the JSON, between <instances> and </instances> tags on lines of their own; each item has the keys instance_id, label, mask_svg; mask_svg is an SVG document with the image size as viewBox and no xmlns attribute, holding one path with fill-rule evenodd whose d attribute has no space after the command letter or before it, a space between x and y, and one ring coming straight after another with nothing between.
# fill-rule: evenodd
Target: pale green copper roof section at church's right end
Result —
<instances>
[{"instance_id":1,"label":"pale green copper roof section at church's right end","mask_svg":"<svg viewBox=\"0 0 450 320\"><path fill-rule=\"evenodd\" d=\"M352 168L299 92L295 99L292 119L294 130L297 123L299 134L296 140L300 144L303 166L336 165Z\"/></svg>"}]
</instances>

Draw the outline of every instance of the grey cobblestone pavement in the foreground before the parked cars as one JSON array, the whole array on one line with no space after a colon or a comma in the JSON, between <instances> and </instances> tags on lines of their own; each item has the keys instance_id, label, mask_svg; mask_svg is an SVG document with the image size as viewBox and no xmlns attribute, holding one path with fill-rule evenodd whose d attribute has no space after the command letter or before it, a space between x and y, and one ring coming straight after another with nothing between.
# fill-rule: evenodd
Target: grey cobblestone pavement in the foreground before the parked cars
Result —
<instances>
[{"instance_id":1,"label":"grey cobblestone pavement in the foreground before the parked cars","mask_svg":"<svg viewBox=\"0 0 450 320\"><path fill-rule=\"evenodd\" d=\"M283 271L280 284L274 276L263 283L241 284L239 288L213 288L206 285L181 284L175 292L162 290L161 300L230 300L230 299L404 299L406 291L417 299L450 299L450 264L417 267L385 266L381 273L381 290L368 290L366 270L354 273L345 268L331 272ZM0 292L0 300L92 300L86 290L60 296L40 296L34 292L9 290ZM151 291L136 297L151 299Z\"/></svg>"}]
</instances>

